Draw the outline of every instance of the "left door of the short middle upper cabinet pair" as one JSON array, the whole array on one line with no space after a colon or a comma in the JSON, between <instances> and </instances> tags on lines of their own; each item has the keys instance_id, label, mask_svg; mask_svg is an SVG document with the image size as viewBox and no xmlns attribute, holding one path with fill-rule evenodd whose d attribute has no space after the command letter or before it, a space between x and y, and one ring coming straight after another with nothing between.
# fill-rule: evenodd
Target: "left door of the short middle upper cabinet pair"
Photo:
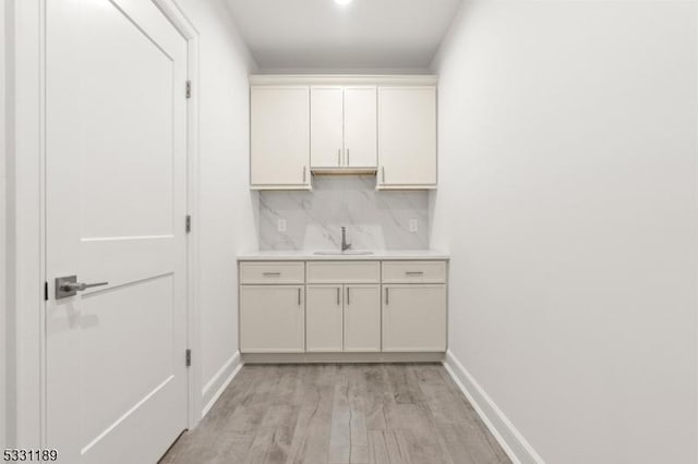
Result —
<instances>
[{"instance_id":1,"label":"left door of the short middle upper cabinet pair","mask_svg":"<svg viewBox=\"0 0 698 464\"><path fill-rule=\"evenodd\" d=\"M339 168L344 164L341 87L312 87L310 106L311 167Z\"/></svg>"}]
</instances>

